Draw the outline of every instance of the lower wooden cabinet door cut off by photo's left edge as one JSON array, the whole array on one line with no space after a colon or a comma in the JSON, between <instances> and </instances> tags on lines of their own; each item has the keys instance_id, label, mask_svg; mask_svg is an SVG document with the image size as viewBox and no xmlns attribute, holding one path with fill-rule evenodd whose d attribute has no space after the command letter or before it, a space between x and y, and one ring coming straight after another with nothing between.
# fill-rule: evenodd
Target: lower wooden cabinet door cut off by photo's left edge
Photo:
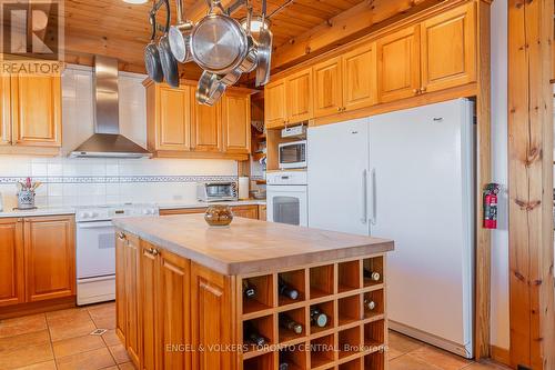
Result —
<instances>
[{"instance_id":1,"label":"lower wooden cabinet door cut off by photo's left edge","mask_svg":"<svg viewBox=\"0 0 555 370\"><path fill-rule=\"evenodd\" d=\"M23 221L0 219L0 307L26 301Z\"/></svg>"}]
</instances>

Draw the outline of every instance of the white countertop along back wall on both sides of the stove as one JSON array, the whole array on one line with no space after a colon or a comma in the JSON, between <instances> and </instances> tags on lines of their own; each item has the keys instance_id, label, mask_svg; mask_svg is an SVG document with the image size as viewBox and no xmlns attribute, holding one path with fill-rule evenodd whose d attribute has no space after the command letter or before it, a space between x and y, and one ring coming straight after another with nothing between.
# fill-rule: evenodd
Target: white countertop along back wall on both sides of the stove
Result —
<instances>
[{"instance_id":1,"label":"white countertop along back wall on both sides of the stove","mask_svg":"<svg viewBox=\"0 0 555 370\"><path fill-rule=\"evenodd\" d=\"M266 201L264 199L250 199L250 200L238 200L228 202L175 202L175 203L157 203L160 209L180 209L180 208L203 208L213 204L226 204L226 206L264 206ZM39 207L34 210L12 210L4 209L0 212L0 218L9 217L38 217L38 216L59 216L59 214L74 214L77 207Z\"/></svg>"}]
</instances>

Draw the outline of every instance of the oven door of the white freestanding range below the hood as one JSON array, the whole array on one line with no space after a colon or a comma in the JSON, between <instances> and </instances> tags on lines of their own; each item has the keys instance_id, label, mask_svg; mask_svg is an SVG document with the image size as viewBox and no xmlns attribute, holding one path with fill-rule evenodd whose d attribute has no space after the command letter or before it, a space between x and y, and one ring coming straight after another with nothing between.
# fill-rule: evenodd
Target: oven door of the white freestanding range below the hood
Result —
<instances>
[{"instance_id":1,"label":"oven door of the white freestanding range below the hood","mask_svg":"<svg viewBox=\"0 0 555 370\"><path fill-rule=\"evenodd\" d=\"M115 229L112 221L78 222L78 280L113 274L115 274Z\"/></svg>"}]
</instances>

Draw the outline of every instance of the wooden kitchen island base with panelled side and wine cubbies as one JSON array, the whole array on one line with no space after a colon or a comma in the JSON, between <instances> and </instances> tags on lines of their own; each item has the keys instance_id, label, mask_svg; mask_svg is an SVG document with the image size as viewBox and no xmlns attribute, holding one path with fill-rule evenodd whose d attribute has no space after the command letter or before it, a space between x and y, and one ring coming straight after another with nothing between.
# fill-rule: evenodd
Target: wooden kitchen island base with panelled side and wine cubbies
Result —
<instances>
[{"instance_id":1,"label":"wooden kitchen island base with panelled side and wine cubbies","mask_svg":"<svg viewBox=\"0 0 555 370\"><path fill-rule=\"evenodd\" d=\"M139 369L278 370L282 362L287 370L386 368L384 246L391 250L391 241L356 247L357 257L287 267L278 260L263 272L225 274L152 243L158 236L148 241L117 226L117 331ZM364 278L364 269L380 279ZM296 300L279 293L280 280L299 292ZM245 298L243 282L255 289L254 298ZM313 307L327 316L324 328L311 326ZM302 333L282 327L283 314ZM266 344L248 343L244 328L254 328Z\"/></svg>"}]
</instances>

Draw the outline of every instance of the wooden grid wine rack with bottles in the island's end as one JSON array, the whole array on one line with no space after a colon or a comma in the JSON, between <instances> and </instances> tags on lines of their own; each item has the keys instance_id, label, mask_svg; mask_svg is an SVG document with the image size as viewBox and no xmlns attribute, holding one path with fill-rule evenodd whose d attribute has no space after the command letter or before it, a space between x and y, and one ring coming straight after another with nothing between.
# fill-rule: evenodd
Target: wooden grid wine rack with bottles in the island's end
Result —
<instances>
[{"instance_id":1,"label":"wooden grid wine rack with bottles in the island's end","mask_svg":"<svg viewBox=\"0 0 555 370\"><path fill-rule=\"evenodd\" d=\"M374 276L365 278L364 270ZM241 366L243 370L278 370L281 362L289 370L385 369L384 273L385 254L376 254L238 277L238 291L243 291L243 281L256 290L253 298L240 300L239 326L254 328L269 344L244 346L239 370ZM297 298L280 294L280 281L295 290ZM324 327L311 324L311 308L327 317ZM300 324L302 332L287 329L281 321L284 316ZM240 330L240 342L242 334Z\"/></svg>"}]
</instances>

